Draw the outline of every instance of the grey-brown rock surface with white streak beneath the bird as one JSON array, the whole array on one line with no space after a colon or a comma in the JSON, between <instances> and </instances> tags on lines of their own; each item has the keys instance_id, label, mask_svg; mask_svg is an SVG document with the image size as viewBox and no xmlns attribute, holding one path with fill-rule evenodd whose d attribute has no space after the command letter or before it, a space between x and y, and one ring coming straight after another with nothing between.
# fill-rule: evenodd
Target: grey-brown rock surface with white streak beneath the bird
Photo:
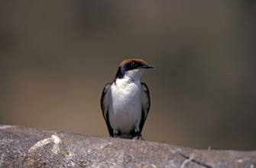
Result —
<instances>
[{"instance_id":1,"label":"grey-brown rock surface with white streak beneath the bird","mask_svg":"<svg viewBox=\"0 0 256 168\"><path fill-rule=\"evenodd\" d=\"M151 141L0 125L0 167L256 167L256 151L195 150Z\"/></svg>"}]
</instances>

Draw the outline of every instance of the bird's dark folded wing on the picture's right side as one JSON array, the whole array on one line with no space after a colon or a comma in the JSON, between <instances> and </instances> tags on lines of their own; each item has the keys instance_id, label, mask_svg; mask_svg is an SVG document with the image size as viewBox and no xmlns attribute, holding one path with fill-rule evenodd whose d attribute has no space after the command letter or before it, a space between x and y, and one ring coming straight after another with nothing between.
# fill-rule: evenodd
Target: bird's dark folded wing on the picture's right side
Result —
<instances>
[{"instance_id":1,"label":"bird's dark folded wing on the picture's right side","mask_svg":"<svg viewBox=\"0 0 256 168\"><path fill-rule=\"evenodd\" d=\"M141 123L139 126L140 133L141 133L144 123L147 119L147 114L149 112L149 109L151 108L151 98L149 95L149 90L147 88L147 85L144 82L141 82L141 105L142 105Z\"/></svg>"}]
</instances>

